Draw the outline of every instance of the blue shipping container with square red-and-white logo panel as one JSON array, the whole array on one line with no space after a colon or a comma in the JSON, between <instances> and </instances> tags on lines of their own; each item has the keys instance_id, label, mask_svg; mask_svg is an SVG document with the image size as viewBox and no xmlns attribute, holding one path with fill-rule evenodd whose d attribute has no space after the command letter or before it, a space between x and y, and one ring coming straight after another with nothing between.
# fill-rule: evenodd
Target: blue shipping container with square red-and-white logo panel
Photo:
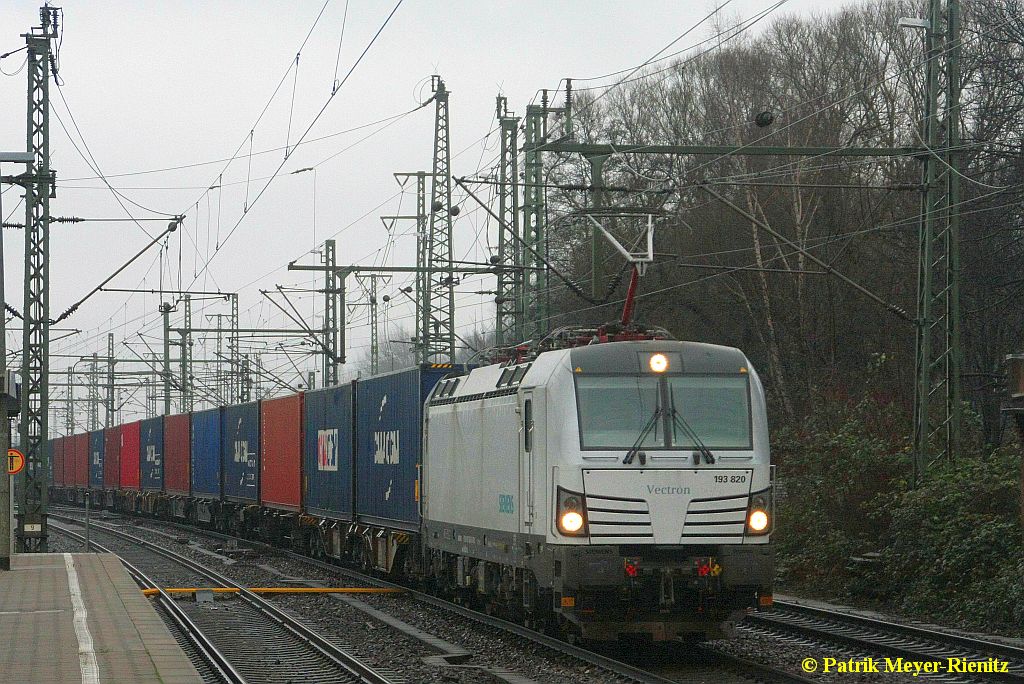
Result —
<instances>
[{"instance_id":1,"label":"blue shipping container with square red-and-white logo panel","mask_svg":"<svg viewBox=\"0 0 1024 684\"><path fill-rule=\"evenodd\" d=\"M305 510L352 519L352 385L305 395L302 448Z\"/></svg>"}]
</instances>

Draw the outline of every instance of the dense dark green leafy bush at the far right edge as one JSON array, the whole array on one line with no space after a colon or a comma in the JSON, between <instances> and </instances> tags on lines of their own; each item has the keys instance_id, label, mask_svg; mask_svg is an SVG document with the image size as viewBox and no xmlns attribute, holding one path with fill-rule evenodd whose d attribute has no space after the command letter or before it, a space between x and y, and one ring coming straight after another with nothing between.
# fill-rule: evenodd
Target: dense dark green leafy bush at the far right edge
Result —
<instances>
[{"instance_id":1,"label":"dense dark green leafy bush at the far right edge","mask_svg":"<svg viewBox=\"0 0 1024 684\"><path fill-rule=\"evenodd\" d=\"M888 523L880 586L895 606L977 629L1024 625L1020 454L967 453L876 503Z\"/></svg>"}]
</instances>

